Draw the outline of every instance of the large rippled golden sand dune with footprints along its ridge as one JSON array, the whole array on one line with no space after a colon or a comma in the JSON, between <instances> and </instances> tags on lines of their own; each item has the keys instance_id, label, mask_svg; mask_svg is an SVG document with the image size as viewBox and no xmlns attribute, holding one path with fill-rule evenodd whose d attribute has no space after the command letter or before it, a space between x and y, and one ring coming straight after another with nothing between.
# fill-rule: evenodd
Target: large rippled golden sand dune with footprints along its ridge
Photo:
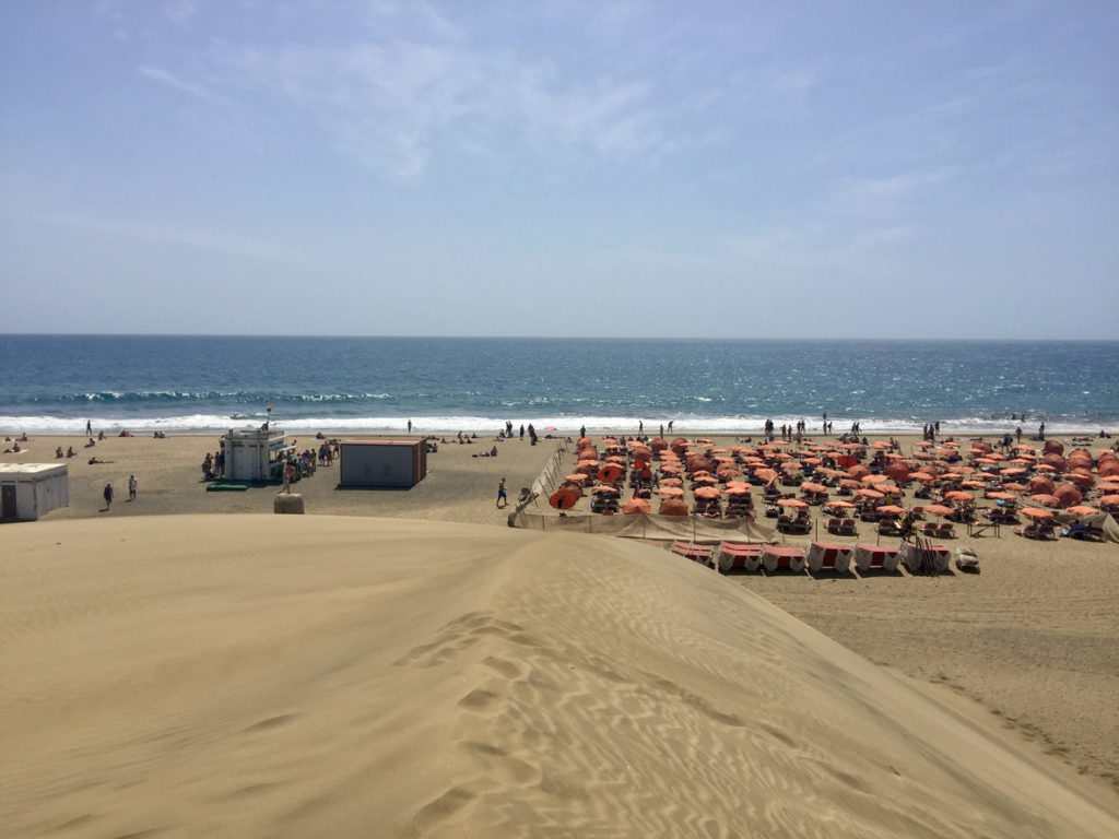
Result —
<instances>
[{"instance_id":1,"label":"large rippled golden sand dune with footprints along its ridge","mask_svg":"<svg viewBox=\"0 0 1119 839\"><path fill-rule=\"evenodd\" d=\"M1062 767L642 545L242 515L4 539L7 836L1119 835Z\"/></svg>"}]
</instances>

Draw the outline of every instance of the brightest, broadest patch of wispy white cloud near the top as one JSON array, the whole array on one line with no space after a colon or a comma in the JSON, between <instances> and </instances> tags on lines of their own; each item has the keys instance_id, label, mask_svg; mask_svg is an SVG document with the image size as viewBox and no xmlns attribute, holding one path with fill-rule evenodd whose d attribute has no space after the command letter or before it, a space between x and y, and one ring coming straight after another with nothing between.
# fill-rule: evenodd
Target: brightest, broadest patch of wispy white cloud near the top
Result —
<instances>
[{"instance_id":1,"label":"brightest, broadest patch of wispy white cloud near the top","mask_svg":"<svg viewBox=\"0 0 1119 839\"><path fill-rule=\"evenodd\" d=\"M446 144L519 139L537 149L627 158L664 154L679 142L670 139L670 114L655 104L649 81L568 81L546 60L524 62L506 50L393 40L227 47L216 62L233 86L311 115L336 148L397 177L419 175Z\"/></svg>"}]
</instances>

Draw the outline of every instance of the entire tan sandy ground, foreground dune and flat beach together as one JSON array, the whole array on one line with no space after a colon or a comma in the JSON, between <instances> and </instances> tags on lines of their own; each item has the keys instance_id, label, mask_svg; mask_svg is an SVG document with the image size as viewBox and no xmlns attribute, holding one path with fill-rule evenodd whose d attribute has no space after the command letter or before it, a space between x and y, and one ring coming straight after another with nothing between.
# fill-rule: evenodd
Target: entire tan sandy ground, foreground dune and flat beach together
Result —
<instances>
[{"instance_id":1,"label":"entire tan sandy ground, foreground dune and flat beach together","mask_svg":"<svg viewBox=\"0 0 1119 839\"><path fill-rule=\"evenodd\" d=\"M723 576L507 528L498 481L515 500L554 443L490 445L406 491L320 468L301 518L205 491L216 436L79 449L70 506L0 530L8 832L1119 829L1115 544L1004 528L952 543L980 575Z\"/></svg>"}]
</instances>

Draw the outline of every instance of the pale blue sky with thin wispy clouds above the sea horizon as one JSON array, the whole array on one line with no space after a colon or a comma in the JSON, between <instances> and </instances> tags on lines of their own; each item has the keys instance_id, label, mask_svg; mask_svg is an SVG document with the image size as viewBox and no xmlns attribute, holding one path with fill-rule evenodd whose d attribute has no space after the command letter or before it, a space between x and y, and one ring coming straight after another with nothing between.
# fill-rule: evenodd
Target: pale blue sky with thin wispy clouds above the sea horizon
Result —
<instances>
[{"instance_id":1,"label":"pale blue sky with thin wispy clouds above the sea horizon","mask_svg":"<svg viewBox=\"0 0 1119 839\"><path fill-rule=\"evenodd\" d=\"M1110 0L0 8L0 333L1119 339Z\"/></svg>"}]
</instances>

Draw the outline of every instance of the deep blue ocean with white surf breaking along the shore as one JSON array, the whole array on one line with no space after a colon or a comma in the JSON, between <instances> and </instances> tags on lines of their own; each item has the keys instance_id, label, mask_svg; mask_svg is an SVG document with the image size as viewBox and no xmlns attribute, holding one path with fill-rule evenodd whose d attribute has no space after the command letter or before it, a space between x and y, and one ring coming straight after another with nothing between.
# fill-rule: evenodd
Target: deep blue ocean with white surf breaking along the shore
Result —
<instances>
[{"instance_id":1,"label":"deep blue ocean with white surf breaking along the shore","mask_svg":"<svg viewBox=\"0 0 1119 839\"><path fill-rule=\"evenodd\" d=\"M825 413L836 433L1116 433L1119 341L0 336L4 433L818 433Z\"/></svg>"}]
</instances>

